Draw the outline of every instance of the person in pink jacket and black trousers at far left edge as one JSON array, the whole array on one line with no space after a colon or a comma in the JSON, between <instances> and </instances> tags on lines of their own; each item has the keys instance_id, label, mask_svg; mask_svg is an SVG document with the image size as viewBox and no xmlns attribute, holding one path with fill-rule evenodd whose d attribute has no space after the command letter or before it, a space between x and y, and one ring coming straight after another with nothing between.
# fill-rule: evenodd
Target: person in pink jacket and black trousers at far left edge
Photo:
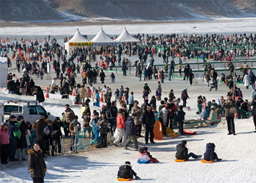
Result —
<instances>
[{"instance_id":1,"label":"person in pink jacket and black trousers at far left edge","mask_svg":"<svg viewBox=\"0 0 256 183\"><path fill-rule=\"evenodd\" d=\"M9 129L7 127L7 123L4 122L0 127L0 144L1 144L1 164L7 164L9 158Z\"/></svg>"}]
</instances>

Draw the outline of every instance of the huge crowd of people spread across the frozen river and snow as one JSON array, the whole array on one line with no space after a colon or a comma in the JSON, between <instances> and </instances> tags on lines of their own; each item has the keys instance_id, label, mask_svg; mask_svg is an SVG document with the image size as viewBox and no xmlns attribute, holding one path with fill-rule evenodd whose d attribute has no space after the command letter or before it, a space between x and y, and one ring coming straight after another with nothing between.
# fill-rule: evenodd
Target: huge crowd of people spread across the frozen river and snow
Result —
<instances>
[{"instance_id":1,"label":"huge crowd of people spread across the frozen river and snow","mask_svg":"<svg viewBox=\"0 0 256 183\"><path fill-rule=\"evenodd\" d=\"M108 148L108 134L113 136L114 141L111 145L116 147L129 148L131 141L134 143L134 150L139 151L139 160L146 159L148 162L154 162L156 159L150 157L147 148L138 146L138 138L142 136L142 127L145 129L145 144L155 143L154 126L156 120L159 120L163 127L163 136L167 137L166 127L173 129L173 125L179 125L180 135L183 135L183 125L186 113L184 108L187 107L187 100L190 99L188 90L182 90L180 97L175 96L174 91L170 90L168 97L162 96L161 84L164 83L164 77L168 75L172 80L172 72L175 70L175 61L173 58L179 56L180 76L184 68L184 80L189 79L193 84L193 72L189 65L182 66L182 61L187 58L201 57L205 61L205 85L218 89L218 74L211 63L211 60L227 60L230 75L221 74L220 81L227 84L230 91L227 93L227 100L221 97L219 104L215 100L207 102L205 97L198 96L198 121L207 120L211 124L218 122L218 119L225 117L228 124L228 135L236 135L234 118L248 118L253 115L253 122L256 129L256 77L246 63L241 70L243 76L235 76L236 82L244 82L246 89L252 85L252 102L243 99L241 88L237 88L234 83L234 65L231 60L234 56L254 56L256 47L256 36L250 35L137 35L141 44L120 44L116 47L101 47L100 51L95 48L76 48L72 50L71 55L58 44L55 38L50 36L42 40L27 42L21 39L20 43L8 42L0 44L0 54L8 57L8 66L12 67L12 60L15 60L17 72L22 72L22 77L18 79L15 74L9 73L6 77L8 91L17 95L36 95L36 101L44 102L44 92L40 86L36 86L35 79L44 79L44 74L51 74L52 68L56 73L56 79L60 79L60 94L62 99L68 99L69 95L75 90L75 103L85 106L82 118L83 123L78 122L77 114L72 111L67 104L62 114L62 118L56 118L53 122L48 120L47 115L43 115L35 123L24 122L23 116L17 118L10 115L7 122L2 123L0 127L1 142L1 163L7 164L8 161L26 160L26 149L28 152L28 164L31 177L35 181L38 177L42 178L47 171L44 163L44 157L63 152L62 137L70 137L70 153L76 152L77 133L86 132L89 137L95 139L100 148ZM68 39L66 38L66 41ZM236 48L236 52L232 49ZM226 51L225 51L226 50ZM12 53L12 58L8 56ZM96 54L102 54L98 64ZM143 86L143 104L134 99L133 92L128 87L120 86L116 88L114 95L109 86L104 85L102 88L93 86L97 83L97 77L100 77L101 84L104 84L106 74L104 70L107 67L112 69L116 63L122 65L123 76L127 76L127 70L131 68L131 61L123 58L122 54L128 56L138 56L138 61L134 62L135 76L141 81L144 74L144 81L155 79L157 81L156 95L152 95L149 100L148 96L152 93L147 83ZM163 58L164 69L157 70L154 66L154 56ZM149 59L148 59L149 58ZM170 66L169 64L170 60ZM77 63L75 63L77 61ZM91 63L95 63L93 68ZM81 71L81 72L80 72ZM81 84L76 82L77 74L81 74L83 80ZM111 83L115 83L115 74L111 73ZM55 80L53 83L55 84ZM86 86L87 85L87 86ZM115 96L115 100L113 97ZM103 100L101 99L103 98ZM156 101L160 101L157 109ZM180 105L182 100L183 104ZM92 103L90 103L92 101ZM105 102L106 106L99 111L91 111L90 105L100 106L100 102ZM120 107L116 107L116 103ZM252 108L251 108L252 107ZM204 111L203 111L204 109ZM62 134L62 129L64 134ZM255 131L256 132L256 131ZM122 142L120 142L122 140ZM214 144L207 144L207 149L214 150ZM186 152L186 153L184 153ZM213 152L207 152L205 159L220 160ZM210 155L209 155L210 154ZM37 157L35 157L37 155ZM182 141L177 146L177 159L189 159L189 157L198 158L200 155L193 153L188 154L186 141ZM40 175L35 175L36 168L33 167L33 161L40 158ZM141 161L140 161L141 162ZM122 175L126 169L131 170L130 163L120 167L118 178L125 178ZM44 170L44 171L43 171ZM38 170L36 170L37 172ZM129 171L129 177L132 175L139 179L134 171ZM35 176L34 176L35 175ZM125 175L126 176L126 175ZM129 178L127 177L127 178Z\"/></svg>"}]
</instances>

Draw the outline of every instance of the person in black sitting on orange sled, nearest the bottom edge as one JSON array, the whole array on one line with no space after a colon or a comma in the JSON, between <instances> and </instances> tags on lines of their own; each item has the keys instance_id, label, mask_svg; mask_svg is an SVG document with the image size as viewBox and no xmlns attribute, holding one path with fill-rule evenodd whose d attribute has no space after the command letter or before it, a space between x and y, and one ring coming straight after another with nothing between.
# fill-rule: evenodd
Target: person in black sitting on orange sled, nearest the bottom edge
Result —
<instances>
[{"instance_id":1,"label":"person in black sitting on orange sled, nearest the bottom edge","mask_svg":"<svg viewBox=\"0 0 256 183\"><path fill-rule=\"evenodd\" d=\"M132 170L130 161L125 161L125 164L122 164L122 166L119 167L117 178L133 179L133 176L135 177L136 180L140 179L140 177L137 176L137 173L135 173L135 171Z\"/></svg>"}]
</instances>

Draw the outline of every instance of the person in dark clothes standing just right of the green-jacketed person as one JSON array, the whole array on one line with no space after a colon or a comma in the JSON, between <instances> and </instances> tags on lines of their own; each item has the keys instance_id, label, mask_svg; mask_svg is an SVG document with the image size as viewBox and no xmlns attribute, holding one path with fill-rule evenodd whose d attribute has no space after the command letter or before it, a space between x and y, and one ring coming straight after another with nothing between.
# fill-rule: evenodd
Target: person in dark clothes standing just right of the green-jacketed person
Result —
<instances>
[{"instance_id":1,"label":"person in dark clothes standing just right of the green-jacketed person","mask_svg":"<svg viewBox=\"0 0 256 183\"><path fill-rule=\"evenodd\" d=\"M28 130L28 127L26 123L24 122L23 116L18 116L17 121L20 123L20 132L21 136L20 139L17 139L17 150L16 150L16 158L20 159L20 155L22 160L25 159L25 148L28 147L27 139L26 139L26 132Z\"/></svg>"}]
</instances>

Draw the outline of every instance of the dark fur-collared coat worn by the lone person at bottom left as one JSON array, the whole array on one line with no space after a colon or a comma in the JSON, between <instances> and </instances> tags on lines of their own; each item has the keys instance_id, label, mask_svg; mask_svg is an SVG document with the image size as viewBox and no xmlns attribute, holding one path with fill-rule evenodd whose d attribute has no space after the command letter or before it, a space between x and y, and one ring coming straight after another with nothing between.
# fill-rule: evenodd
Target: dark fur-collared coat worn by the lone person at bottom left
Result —
<instances>
[{"instance_id":1,"label":"dark fur-collared coat worn by the lone person at bottom left","mask_svg":"<svg viewBox=\"0 0 256 183\"><path fill-rule=\"evenodd\" d=\"M42 150L39 149L36 152L33 148L28 150L28 171L35 171L31 173L31 178L44 177L45 176L46 164L44 161L44 155Z\"/></svg>"}]
</instances>

